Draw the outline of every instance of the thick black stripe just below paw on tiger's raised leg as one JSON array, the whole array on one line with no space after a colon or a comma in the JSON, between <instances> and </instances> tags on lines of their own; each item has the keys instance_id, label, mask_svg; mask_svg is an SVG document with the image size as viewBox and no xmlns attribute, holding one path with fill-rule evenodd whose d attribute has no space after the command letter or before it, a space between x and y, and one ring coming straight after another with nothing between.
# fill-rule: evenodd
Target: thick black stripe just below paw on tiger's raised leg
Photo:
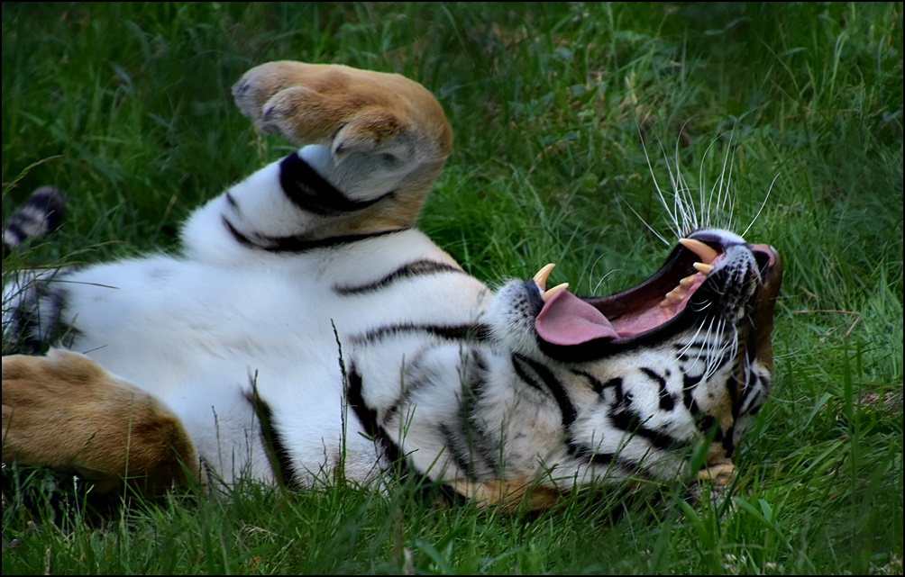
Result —
<instances>
[{"instance_id":1,"label":"thick black stripe just below paw on tiger's raised leg","mask_svg":"<svg viewBox=\"0 0 905 577\"><path fill-rule=\"evenodd\" d=\"M280 163L280 185L293 204L320 216L354 213L393 194L389 192L365 201L352 200L294 152Z\"/></svg>"}]
</instances>

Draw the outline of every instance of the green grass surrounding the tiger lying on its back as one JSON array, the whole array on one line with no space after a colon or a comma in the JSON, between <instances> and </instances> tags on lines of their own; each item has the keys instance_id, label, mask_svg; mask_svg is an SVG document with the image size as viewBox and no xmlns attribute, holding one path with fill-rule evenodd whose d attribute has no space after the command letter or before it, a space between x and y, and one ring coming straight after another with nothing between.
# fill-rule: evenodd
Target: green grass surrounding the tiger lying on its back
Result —
<instances>
[{"instance_id":1,"label":"green grass surrounding the tiger lying on its back","mask_svg":"<svg viewBox=\"0 0 905 577\"><path fill-rule=\"evenodd\" d=\"M786 267L774 395L719 506L609 488L500 516L250 484L99 512L10 467L4 574L902 572L901 3L8 3L2 29L4 213L69 192L4 271L174 248L189 210L285 154L229 95L276 59L433 90L456 140L421 225L491 284L548 261L578 292L642 279L666 251L629 209L666 231L644 147L662 186L661 144L710 186L729 137L735 225L771 190L747 237Z\"/></svg>"}]
</instances>

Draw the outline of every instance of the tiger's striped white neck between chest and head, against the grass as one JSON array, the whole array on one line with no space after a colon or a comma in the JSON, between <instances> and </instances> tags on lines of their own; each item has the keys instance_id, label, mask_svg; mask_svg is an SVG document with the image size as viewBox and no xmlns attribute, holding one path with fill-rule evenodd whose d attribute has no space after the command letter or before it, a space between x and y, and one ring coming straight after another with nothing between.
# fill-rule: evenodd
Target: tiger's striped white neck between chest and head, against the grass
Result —
<instances>
[{"instance_id":1,"label":"tiger's striped white neck between chest and head, against the grass","mask_svg":"<svg viewBox=\"0 0 905 577\"><path fill-rule=\"evenodd\" d=\"M371 420L368 432L391 460L405 457L418 473L466 497L504 505L526 492L546 502L603 473L588 457L593 449L576 449L572 440L579 399L567 391L574 384L567 371L490 341L420 348L384 368L385 382L366 377L350 387L357 395L350 405Z\"/></svg>"}]
</instances>

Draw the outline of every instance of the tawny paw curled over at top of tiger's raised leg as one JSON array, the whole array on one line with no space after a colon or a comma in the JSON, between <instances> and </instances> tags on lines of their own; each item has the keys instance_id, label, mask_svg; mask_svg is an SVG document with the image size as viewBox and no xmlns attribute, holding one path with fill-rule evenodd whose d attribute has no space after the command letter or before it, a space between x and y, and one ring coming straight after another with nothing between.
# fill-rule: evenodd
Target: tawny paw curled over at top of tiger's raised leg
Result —
<instances>
[{"instance_id":1,"label":"tawny paw curled over at top of tiger's raised leg","mask_svg":"<svg viewBox=\"0 0 905 577\"><path fill-rule=\"evenodd\" d=\"M274 61L246 72L233 98L259 130L328 146L337 162L356 152L443 161L452 143L433 95L398 74Z\"/></svg>"}]
</instances>

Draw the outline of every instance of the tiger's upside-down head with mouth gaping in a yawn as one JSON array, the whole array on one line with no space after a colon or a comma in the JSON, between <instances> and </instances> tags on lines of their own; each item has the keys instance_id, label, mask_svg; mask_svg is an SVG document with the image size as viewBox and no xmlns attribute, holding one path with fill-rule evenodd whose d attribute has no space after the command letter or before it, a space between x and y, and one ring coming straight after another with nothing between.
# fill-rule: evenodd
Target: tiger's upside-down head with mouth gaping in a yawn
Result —
<instances>
[{"instance_id":1,"label":"tiger's upside-down head with mouth gaping in a yawn","mask_svg":"<svg viewBox=\"0 0 905 577\"><path fill-rule=\"evenodd\" d=\"M557 367L564 413L573 413L564 417L568 452L608 474L727 482L771 385L776 250L700 230L650 279L609 297L547 289L551 269L504 286L491 326L529 363Z\"/></svg>"}]
</instances>

